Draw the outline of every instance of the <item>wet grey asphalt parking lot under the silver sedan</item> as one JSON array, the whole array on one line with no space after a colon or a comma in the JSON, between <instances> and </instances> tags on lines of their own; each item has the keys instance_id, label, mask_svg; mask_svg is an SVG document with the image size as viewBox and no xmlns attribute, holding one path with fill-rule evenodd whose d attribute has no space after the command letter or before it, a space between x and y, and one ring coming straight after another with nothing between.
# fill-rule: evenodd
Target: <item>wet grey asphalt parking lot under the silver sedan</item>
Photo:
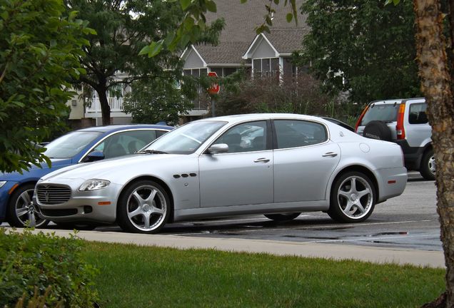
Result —
<instances>
[{"instance_id":1,"label":"wet grey asphalt parking lot under the silver sedan","mask_svg":"<svg viewBox=\"0 0 454 308\"><path fill-rule=\"evenodd\" d=\"M49 228L56 226L49 225ZM117 226L97 227L95 231L121 232ZM178 222L166 225L160 235L443 250L435 185L418 173L409 174L403 195L377 205L373 215L359 224L336 223L323 212L302 213L296 220L279 223L263 215L251 215Z\"/></svg>"}]
</instances>

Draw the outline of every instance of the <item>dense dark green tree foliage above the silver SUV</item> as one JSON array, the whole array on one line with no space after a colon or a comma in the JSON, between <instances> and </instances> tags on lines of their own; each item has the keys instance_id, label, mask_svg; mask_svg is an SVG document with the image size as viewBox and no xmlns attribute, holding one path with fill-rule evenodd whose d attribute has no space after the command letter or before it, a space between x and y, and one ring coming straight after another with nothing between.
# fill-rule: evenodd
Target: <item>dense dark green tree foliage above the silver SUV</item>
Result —
<instances>
[{"instance_id":1,"label":"dense dark green tree foliage above the silver SUV","mask_svg":"<svg viewBox=\"0 0 454 308\"><path fill-rule=\"evenodd\" d=\"M326 91L358 103L421 96L410 1L308 0L302 11L311 30L298 60Z\"/></svg>"}]
</instances>

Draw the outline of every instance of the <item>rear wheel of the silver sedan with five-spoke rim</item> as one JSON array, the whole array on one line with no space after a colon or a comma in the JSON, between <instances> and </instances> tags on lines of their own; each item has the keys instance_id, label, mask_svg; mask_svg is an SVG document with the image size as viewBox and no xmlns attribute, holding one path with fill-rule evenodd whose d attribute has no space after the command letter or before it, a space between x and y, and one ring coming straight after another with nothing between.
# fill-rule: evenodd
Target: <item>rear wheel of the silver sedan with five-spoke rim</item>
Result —
<instances>
[{"instance_id":1,"label":"rear wheel of the silver sedan with five-spoke rim","mask_svg":"<svg viewBox=\"0 0 454 308\"><path fill-rule=\"evenodd\" d=\"M331 189L328 215L338 222L363 222L375 207L375 188L367 175L348 172Z\"/></svg>"}]
</instances>

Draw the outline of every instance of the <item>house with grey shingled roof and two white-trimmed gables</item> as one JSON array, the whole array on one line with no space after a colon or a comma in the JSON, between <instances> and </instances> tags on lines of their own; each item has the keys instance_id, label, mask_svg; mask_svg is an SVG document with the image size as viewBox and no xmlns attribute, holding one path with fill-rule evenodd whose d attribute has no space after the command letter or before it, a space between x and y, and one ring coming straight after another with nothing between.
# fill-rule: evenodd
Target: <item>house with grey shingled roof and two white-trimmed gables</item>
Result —
<instances>
[{"instance_id":1,"label":"house with grey shingled roof and two white-trimmed gables","mask_svg":"<svg viewBox=\"0 0 454 308\"><path fill-rule=\"evenodd\" d=\"M222 18L225 21L218 46L196 44L186 48L181 54L184 61L185 75L203 76L216 72L224 77L234 73L238 68L246 68L254 76L276 76L278 81L285 82L292 78L298 68L291 64L293 51L301 47L303 36L308 33L308 26L303 15L298 15L298 25L288 23L286 15L290 6L273 5L276 13L272 16L271 33L256 34L256 27L263 24L266 15L263 0L248 0L241 4L239 0L216 0L217 12L208 13L209 22ZM296 0L299 8L302 0ZM270 2L271 3L271 2ZM222 89L221 89L222 91ZM84 117L101 117L99 100L94 96L91 106L86 108ZM122 111L121 96L109 96L111 102L112 123L127 123L131 118ZM194 108L188 111L186 120L200 118L208 113L208 102L194 101ZM129 117L129 118L128 118ZM96 120L96 124L101 120Z\"/></svg>"}]
</instances>

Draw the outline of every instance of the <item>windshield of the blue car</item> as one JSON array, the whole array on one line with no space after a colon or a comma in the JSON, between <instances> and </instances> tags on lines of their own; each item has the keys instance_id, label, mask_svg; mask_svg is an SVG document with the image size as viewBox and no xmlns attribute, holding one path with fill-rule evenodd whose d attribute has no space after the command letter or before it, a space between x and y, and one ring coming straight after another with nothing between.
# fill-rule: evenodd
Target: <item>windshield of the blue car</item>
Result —
<instances>
[{"instance_id":1,"label":"windshield of the blue car","mask_svg":"<svg viewBox=\"0 0 454 308\"><path fill-rule=\"evenodd\" d=\"M71 158L101 134L102 133L92 131L75 131L67 133L47 144L44 155L49 158Z\"/></svg>"}]
</instances>

